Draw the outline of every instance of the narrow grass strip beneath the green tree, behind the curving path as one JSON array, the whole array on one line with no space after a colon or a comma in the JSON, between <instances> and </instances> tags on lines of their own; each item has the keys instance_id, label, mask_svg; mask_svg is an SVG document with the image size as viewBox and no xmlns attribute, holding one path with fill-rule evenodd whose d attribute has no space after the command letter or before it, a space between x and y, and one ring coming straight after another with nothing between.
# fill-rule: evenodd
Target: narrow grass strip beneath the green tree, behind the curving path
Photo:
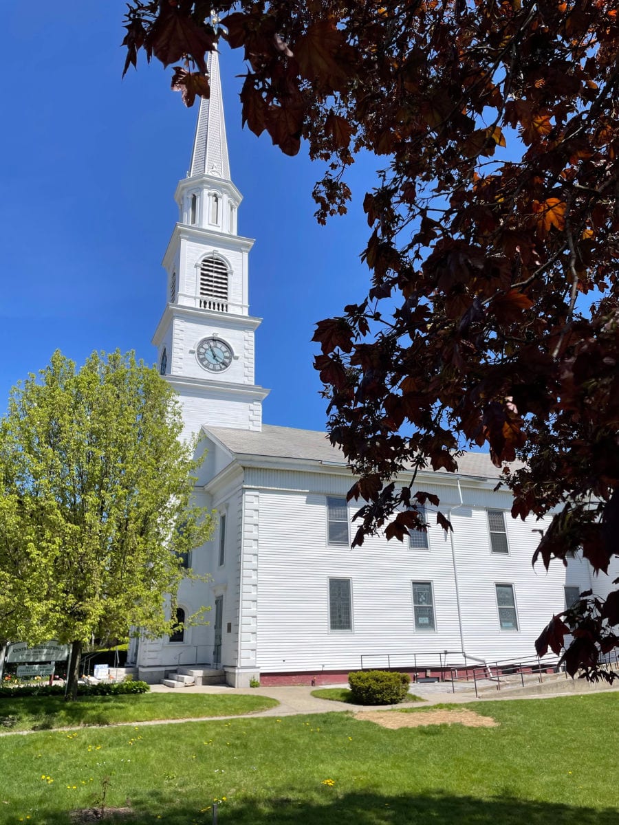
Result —
<instances>
[{"instance_id":1,"label":"narrow grass strip beneath the green tree, behind the curving path","mask_svg":"<svg viewBox=\"0 0 619 825\"><path fill-rule=\"evenodd\" d=\"M204 693L82 696L75 702L65 702L62 697L55 696L2 697L0 733L115 722L152 722L155 719L234 716L266 710L277 704L267 696Z\"/></svg>"}]
</instances>

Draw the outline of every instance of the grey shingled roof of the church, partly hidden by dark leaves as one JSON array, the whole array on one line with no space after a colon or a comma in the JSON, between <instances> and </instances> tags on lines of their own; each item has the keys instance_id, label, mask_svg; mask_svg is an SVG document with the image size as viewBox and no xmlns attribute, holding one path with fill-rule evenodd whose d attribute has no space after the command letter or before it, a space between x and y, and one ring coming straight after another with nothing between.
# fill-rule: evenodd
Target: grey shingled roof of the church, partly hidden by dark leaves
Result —
<instances>
[{"instance_id":1,"label":"grey shingled roof of the church, partly hidden by dark leaves","mask_svg":"<svg viewBox=\"0 0 619 825\"><path fill-rule=\"evenodd\" d=\"M293 427L275 427L263 424L262 431L237 430L229 427L205 427L231 453L236 456L255 455L264 458L299 459L321 461L325 464L341 464L347 461L342 450L331 446L328 436L316 430L296 430ZM458 462L458 473L482 479L497 479L499 469L494 466L488 453L465 452ZM518 464L522 466L522 464ZM444 473L446 470L439 470Z\"/></svg>"}]
</instances>

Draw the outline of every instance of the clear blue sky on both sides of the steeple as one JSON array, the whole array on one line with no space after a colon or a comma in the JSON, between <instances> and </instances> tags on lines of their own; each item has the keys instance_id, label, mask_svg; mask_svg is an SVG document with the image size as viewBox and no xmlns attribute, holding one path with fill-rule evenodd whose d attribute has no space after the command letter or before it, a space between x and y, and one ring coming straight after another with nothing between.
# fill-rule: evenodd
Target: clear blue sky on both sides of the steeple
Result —
<instances>
[{"instance_id":1,"label":"clear blue sky on both sides of the steeple","mask_svg":"<svg viewBox=\"0 0 619 825\"><path fill-rule=\"evenodd\" d=\"M134 349L163 311L163 252L177 218L173 192L191 155L197 104L182 106L171 72L144 60L121 81L125 3L2 3L0 130L0 404L59 348L82 363L92 350ZM240 51L221 51L230 167L244 200L239 233L250 255L257 383L271 388L264 422L324 429L312 367L314 323L366 294L359 254L361 202L371 165L355 165L349 214L327 228L313 217L321 167L304 149L286 158L241 130Z\"/></svg>"}]
</instances>

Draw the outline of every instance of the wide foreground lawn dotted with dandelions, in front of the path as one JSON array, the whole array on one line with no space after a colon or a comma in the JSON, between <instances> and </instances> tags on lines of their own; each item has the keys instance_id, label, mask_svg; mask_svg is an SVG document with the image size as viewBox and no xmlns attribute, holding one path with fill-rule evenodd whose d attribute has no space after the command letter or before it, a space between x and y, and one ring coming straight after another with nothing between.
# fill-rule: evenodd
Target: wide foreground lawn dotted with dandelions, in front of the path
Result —
<instances>
[{"instance_id":1,"label":"wide foreground lawn dotted with dandelions, in front of the path","mask_svg":"<svg viewBox=\"0 0 619 825\"><path fill-rule=\"evenodd\" d=\"M388 730L352 714L0 738L0 822L617 825L617 694L460 705L498 728ZM324 784L325 780L332 780Z\"/></svg>"}]
</instances>

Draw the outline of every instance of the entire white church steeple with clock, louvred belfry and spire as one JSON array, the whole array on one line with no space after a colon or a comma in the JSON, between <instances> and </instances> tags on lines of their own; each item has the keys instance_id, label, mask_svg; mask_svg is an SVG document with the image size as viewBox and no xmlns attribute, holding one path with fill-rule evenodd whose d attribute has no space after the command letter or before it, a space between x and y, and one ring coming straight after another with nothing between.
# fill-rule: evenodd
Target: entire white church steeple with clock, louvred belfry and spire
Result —
<instances>
[{"instance_id":1,"label":"entire white church steeple with clock, louvred belfry and spire","mask_svg":"<svg viewBox=\"0 0 619 825\"><path fill-rule=\"evenodd\" d=\"M161 375L177 389L185 434L202 426L262 427L268 390L254 384L249 314L251 238L237 233L243 196L230 179L219 59L207 68L210 98L202 99L187 177L174 198L178 223L163 257L167 304L153 343Z\"/></svg>"}]
</instances>

